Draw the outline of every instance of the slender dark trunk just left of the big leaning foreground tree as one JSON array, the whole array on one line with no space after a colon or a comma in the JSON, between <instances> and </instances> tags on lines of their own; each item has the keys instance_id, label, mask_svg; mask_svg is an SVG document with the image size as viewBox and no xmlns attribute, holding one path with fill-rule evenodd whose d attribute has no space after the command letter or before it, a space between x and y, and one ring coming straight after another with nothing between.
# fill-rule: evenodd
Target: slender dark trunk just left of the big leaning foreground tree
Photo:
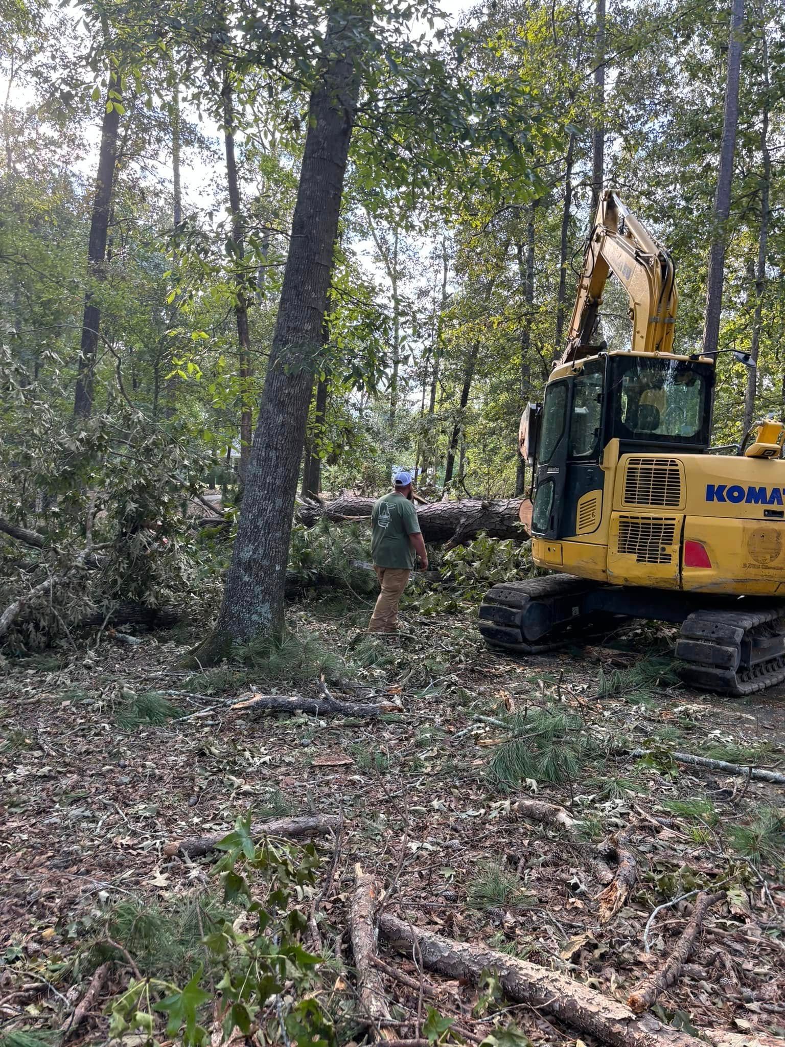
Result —
<instances>
[{"instance_id":1,"label":"slender dark trunk just left of the big leaning foreground tree","mask_svg":"<svg viewBox=\"0 0 785 1047\"><path fill-rule=\"evenodd\" d=\"M251 460L253 437L253 408L250 383L253 377L251 362L251 338L248 331L247 276L245 273L245 220L240 199L240 177L234 155L234 92L228 71L224 72L221 102L224 117L224 147L226 152L226 184L231 208L231 239L234 255L234 320L238 328L239 375L240 375L240 485L245 486L248 463Z\"/></svg>"}]
</instances>

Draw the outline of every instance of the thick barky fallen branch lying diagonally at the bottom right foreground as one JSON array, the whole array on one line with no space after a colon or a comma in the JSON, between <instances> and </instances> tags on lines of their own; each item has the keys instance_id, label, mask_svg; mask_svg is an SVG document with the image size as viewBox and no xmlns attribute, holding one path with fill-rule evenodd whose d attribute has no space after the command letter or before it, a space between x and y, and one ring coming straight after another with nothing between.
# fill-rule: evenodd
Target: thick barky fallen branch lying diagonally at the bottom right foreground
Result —
<instances>
[{"instance_id":1,"label":"thick barky fallen branch lying diagonally at the bottom right foreground","mask_svg":"<svg viewBox=\"0 0 785 1047\"><path fill-rule=\"evenodd\" d=\"M388 913L379 917L379 931L406 956L418 945L423 965L449 978L466 979L476 985L484 972L494 971L511 1000L554 1015L611 1047L704 1047L702 1041L663 1025L652 1015L638 1018L625 1004L526 960L444 938Z\"/></svg>"}]
</instances>

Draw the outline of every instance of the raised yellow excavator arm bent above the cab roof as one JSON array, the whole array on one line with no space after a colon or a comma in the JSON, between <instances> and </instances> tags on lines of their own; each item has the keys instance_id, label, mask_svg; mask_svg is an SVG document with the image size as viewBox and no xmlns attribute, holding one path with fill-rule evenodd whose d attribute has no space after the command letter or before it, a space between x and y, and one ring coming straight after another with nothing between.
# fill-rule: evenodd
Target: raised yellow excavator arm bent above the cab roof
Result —
<instances>
[{"instance_id":1,"label":"raised yellow excavator arm bent above the cab roof","mask_svg":"<svg viewBox=\"0 0 785 1047\"><path fill-rule=\"evenodd\" d=\"M676 285L670 254L624 206L611 190L600 200L586 246L578 297L560 363L597 353L591 338L612 272L630 299L631 349L641 353L670 353L676 319Z\"/></svg>"}]
</instances>

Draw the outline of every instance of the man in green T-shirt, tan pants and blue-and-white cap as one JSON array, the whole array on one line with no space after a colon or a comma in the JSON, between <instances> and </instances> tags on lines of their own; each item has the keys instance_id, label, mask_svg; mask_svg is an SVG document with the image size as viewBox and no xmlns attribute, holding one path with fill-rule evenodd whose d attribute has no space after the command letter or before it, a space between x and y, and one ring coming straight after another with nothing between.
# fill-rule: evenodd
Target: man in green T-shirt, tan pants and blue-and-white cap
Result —
<instances>
[{"instance_id":1,"label":"man in green T-shirt, tan pants and blue-and-white cap","mask_svg":"<svg viewBox=\"0 0 785 1047\"><path fill-rule=\"evenodd\" d=\"M368 632L397 632L398 603L414 570L414 557L420 558L423 571L428 566L408 472L399 472L395 489L375 503L371 524L371 555L382 591L368 623Z\"/></svg>"}]
</instances>

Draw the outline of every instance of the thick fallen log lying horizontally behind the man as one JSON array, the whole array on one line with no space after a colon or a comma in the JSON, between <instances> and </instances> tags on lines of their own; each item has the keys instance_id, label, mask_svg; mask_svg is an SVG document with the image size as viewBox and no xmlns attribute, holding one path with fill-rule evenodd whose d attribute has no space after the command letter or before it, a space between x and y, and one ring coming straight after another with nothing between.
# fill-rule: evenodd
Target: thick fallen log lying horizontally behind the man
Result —
<instances>
[{"instance_id":1,"label":"thick fallen log lying horizontally behind the man","mask_svg":"<svg viewBox=\"0 0 785 1047\"><path fill-rule=\"evenodd\" d=\"M297 519L306 527L313 527L322 517L334 524L369 519L375 500L341 494L333 502L307 502L299 507ZM519 509L520 498L494 502L465 498L462 502L431 502L426 506L417 506L417 518L426 541L459 545L475 538L480 531L492 538L525 541L529 532L520 522Z\"/></svg>"}]
</instances>

